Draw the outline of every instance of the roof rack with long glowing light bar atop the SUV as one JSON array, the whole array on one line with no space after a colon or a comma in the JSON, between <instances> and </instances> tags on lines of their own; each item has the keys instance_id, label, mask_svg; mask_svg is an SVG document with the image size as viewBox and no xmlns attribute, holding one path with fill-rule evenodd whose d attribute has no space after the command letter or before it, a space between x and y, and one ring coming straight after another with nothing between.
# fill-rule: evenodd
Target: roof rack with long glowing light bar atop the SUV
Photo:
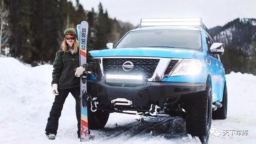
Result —
<instances>
[{"instance_id":1,"label":"roof rack with long glowing light bar atop the SUV","mask_svg":"<svg viewBox=\"0 0 256 144\"><path fill-rule=\"evenodd\" d=\"M189 26L202 28L208 32L208 28L203 24L202 18L142 18L140 27L146 26Z\"/></svg>"}]
</instances>

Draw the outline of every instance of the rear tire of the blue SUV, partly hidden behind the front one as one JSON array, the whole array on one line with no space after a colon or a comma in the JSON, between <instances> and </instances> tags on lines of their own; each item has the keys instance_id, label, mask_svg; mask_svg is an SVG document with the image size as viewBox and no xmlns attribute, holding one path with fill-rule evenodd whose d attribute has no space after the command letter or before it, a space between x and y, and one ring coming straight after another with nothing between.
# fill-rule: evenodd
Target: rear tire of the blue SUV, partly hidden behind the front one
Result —
<instances>
[{"instance_id":1,"label":"rear tire of the blue SUV, partly hidden behind the front one","mask_svg":"<svg viewBox=\"0 0 256 144\"><path fill-rule=\"evenodd\" d=\"M223 88L223 97L221 101L222 107L212 112L213 120L225 120L227 118L227 110L228 110L228 91L226 82L224 83Z\"/></svg>"}]
</instances>

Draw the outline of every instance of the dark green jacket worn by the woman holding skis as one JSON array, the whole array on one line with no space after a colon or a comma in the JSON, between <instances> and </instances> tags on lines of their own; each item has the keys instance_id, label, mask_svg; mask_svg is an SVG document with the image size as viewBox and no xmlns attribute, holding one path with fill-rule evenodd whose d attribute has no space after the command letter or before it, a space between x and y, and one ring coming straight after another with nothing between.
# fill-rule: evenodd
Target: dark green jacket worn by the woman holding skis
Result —
<instances>
[{"instance_id":1,"label":"dark green jacket worn by the woman holding skis","mask_svg":"<svg viewBox=\"0 0 256 144\"><path fill-rule=\"evenodd\" d=\"M79 67L79 53L72 55L64 53L61 49L57 51L53 62L53 83L58 84L59 89L70 89L80 86L79 77L75 76L75 68ZM97 68L97 63L87 51L87 63L83 64L85 71L92 71Z\"/></svg>"}]
</instances>

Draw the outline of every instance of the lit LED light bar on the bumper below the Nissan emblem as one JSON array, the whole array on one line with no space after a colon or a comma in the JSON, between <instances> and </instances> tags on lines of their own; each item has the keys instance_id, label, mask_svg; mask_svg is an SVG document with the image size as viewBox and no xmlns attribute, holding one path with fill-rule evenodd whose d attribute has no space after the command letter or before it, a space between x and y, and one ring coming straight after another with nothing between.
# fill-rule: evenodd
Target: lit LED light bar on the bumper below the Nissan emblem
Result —
<instances>
[{"instance_id":1,"label":"lit LED light bar on the bumper below the Nissan emblem","mask_svg":"<svg viewBox=\"0 0 256 144\"><path fill-rule=\"evenodd\" d=\"M113 75L106 74L106 80L113 81L143 81L142 75Z\"/></svg>"}]
</instances>

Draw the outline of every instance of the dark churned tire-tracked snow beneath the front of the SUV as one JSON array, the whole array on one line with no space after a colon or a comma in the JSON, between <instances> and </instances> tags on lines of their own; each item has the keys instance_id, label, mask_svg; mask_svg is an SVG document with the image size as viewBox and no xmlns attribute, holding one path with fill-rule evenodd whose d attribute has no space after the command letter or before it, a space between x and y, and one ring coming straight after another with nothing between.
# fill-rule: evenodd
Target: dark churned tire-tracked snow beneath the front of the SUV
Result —
<instances>
[{"instance_id":1,"label":"dark churned tire-tracked snow beneath the front of the SUV","mask_svg":"<svg viewBox=\"0 0 256 144\"><path fill-rule=\"evenodd\" d=\"M167 139L187 137L185 120L180 117L144 116L143 118L144 123L132 122L124 126L93 130L92 132L95 137L100 136L102 141L112 138L125 138L128 140L130 138L145 137L145 135L149 134L151 136L164 136Z\"/></svg>"}]
</instances>

